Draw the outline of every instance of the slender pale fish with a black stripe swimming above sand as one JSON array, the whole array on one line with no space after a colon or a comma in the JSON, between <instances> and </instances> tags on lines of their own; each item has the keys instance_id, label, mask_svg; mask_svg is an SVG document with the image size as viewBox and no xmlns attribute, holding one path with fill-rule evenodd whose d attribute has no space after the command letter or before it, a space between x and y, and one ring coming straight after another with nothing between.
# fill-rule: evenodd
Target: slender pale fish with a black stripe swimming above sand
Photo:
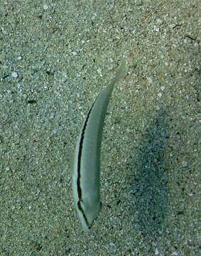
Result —
<instances>
[{"instance_id":1,"label":"slender pale fish with a black stripe swimming above sand","mask_svg":"<svg viewBox=\"0 0 201 256\"><path fill-rule=\"evenodd\" d=\"M99 213L100 202L100 150L104 118L114 84L124 75L121 63L116 76L99 93L90 107L75 146L72 174L72 191L78 217L87 233Z\"/></svg>"}]
</instances>

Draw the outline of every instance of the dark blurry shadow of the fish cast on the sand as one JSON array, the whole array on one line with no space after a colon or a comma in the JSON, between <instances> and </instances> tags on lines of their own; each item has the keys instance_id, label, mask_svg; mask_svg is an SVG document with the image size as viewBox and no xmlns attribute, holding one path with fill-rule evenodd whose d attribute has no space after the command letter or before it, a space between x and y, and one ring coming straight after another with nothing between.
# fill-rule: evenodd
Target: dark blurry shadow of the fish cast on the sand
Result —
<instances>
[{"instance_id":1,"label":"dark blurry shadow of the fish cast on the sand","mask_svg":"<svg viewBox=\"0 0 201 256\"><path fill-rule=\"evenodd\" d=\"M134 212L145 237L164 231L168 215L168 178L165 149L168 145L168 113L159 111L143 133L137 149L134 178Z\"/></svg>"}]
</instances>

